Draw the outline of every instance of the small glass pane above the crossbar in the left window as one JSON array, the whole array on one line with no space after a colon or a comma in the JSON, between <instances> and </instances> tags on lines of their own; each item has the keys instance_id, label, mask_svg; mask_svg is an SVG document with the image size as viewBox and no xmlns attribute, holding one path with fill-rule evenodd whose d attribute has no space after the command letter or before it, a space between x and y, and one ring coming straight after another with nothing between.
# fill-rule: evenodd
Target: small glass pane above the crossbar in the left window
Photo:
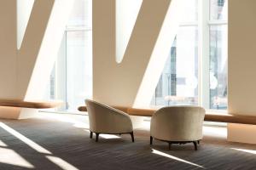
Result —
<instances>
[{"instance_id":1,"label":"small glass pane above the crossbar in the left window","mask_svg":"<svg viewBox=\"0 0 256 170\"><path fill-rule=\"evenodd\" d=\"M75 0L67 26L87 26L91 28L91 0Z\"/></svg>"}]
</instances>

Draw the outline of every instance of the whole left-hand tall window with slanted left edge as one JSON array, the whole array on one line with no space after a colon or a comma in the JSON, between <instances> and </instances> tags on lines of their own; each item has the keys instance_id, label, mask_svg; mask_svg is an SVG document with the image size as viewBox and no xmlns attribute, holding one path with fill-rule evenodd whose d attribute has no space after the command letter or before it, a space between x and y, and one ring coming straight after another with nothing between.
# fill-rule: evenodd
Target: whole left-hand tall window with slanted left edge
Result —
<instances>
[{"instance_id":1,"label":"whole left-hand tall window with slanted left edge","mask_svg":"<svg viewBox=\"0 0 256 170\"><path fill-rule=\"evenodd\" d=\"M75 0L63 32L55 67L49 78L46 99L60 99L59 111L77 111L92 95L92 0Z\"/></svg>"}]
</instances>

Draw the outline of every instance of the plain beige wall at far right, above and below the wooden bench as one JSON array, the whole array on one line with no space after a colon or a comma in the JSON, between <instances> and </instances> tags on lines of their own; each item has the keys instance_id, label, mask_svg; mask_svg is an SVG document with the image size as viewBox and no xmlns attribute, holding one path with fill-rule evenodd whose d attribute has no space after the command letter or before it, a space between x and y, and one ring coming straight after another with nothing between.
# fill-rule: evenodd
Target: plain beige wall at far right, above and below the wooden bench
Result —
<instances>
[{"instance_id":1,"label":"plain beige wall at far right, above and below the wooden bench","mask_svg":"<svg viewBox=\"0 0 256 170\"><path fill-rule=\"evenodd\" d=\"M256 116L256 1L229 1L229 112ZM230 124L228 139L256 144L256 126Z\"/></svg>"}]
</instances>

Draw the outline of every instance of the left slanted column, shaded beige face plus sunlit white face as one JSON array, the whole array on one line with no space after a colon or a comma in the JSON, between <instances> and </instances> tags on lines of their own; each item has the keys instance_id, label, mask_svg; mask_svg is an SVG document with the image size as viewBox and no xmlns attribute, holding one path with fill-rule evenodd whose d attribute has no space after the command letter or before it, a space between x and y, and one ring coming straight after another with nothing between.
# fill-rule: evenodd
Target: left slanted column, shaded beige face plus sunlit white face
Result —
<instances>
[{"instance_id":1,"label":"left slanted column, shaded beige face plus sunlit white face","mask_svg":"<svg viewBox=\"0 0 256 170\"><path fill-rule=\"evenodd\" d=\"M18 53L21 98L42 98L72 7L73 0L35 1Z\"/></svg>"}]
</instances>

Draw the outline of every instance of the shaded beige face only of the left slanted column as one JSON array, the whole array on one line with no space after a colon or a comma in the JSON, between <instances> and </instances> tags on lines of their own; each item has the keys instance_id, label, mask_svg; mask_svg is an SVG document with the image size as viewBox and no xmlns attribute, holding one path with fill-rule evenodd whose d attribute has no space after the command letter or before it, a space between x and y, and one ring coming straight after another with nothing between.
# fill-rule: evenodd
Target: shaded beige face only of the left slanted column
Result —
<instances>
[{"instance_id":1,"label":"shaded beige face only of the left slanted column","mask_svg":"<svg viewBox=\"0 0 256 170\"><path fill-rule=\"evenodd\" d=\"M20 99L25 99L29 82L32 80L32 72L34 68L36 69L36 61L54 3L54 0L39 0L33 4L25 36L17 54L17 84L19 84L18 96ZM26 25L26 23L22 24Z\"/></svg>"}]
</instances>

